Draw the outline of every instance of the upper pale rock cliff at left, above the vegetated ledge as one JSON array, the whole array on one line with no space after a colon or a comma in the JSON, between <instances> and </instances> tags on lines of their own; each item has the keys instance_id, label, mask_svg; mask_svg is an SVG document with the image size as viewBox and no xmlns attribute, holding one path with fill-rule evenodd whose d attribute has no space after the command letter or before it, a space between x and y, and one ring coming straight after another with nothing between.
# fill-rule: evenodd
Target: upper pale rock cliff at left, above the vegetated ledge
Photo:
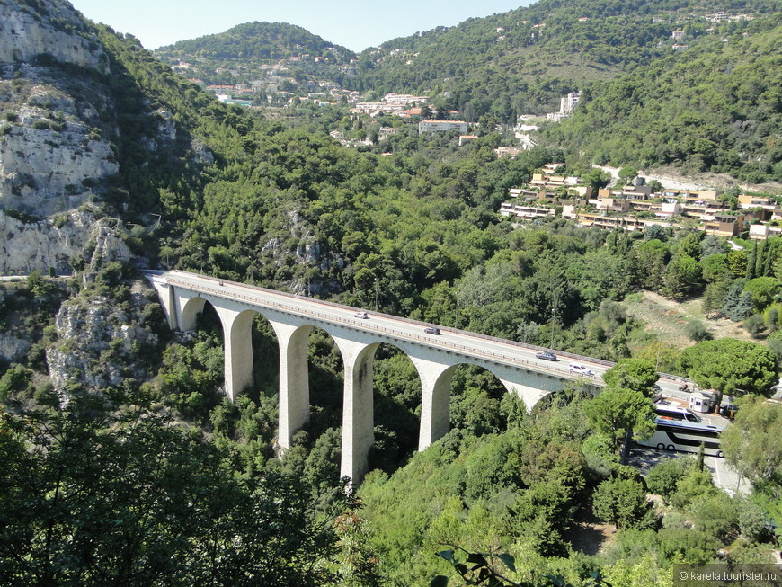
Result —
<instances>
[{"instance_id":1,"label":"upper pale rock cliff at left, above the vegetated ledge","mask_svg":"<svg viewBox=\"0 0 782 587\"><path fill-rule=\"evenodd\" d=\"M76 69L66 75L67 67ZM0 208L73 209L119 171L102 138L105 90L74 75L108 67L96 33L67 2L0 3Z\"/></svg>"}]
</instances>

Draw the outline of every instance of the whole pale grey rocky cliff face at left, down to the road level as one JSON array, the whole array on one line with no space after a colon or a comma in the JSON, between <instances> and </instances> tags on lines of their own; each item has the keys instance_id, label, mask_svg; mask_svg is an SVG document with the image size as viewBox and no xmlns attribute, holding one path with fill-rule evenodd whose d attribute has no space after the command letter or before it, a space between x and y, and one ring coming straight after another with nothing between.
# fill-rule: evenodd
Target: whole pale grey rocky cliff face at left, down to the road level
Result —
<instances>
[{"instance_id":1,"label":"whole pale grey rocky cliff face at left, down to the road level","mask_svg":"<svg viewBox=\"0 0 782 587\"><path fill-rule=\"evenodd\" d=\"M112 63L66 0L0 0L0 273L71 271L94 220L72 211L111 200L104 214L120 216L133 197L119 175L122 146L151 162L175 140L172 113L143 102L133 114L144 130L125 140Z\"/></svg>"}]
</instances>

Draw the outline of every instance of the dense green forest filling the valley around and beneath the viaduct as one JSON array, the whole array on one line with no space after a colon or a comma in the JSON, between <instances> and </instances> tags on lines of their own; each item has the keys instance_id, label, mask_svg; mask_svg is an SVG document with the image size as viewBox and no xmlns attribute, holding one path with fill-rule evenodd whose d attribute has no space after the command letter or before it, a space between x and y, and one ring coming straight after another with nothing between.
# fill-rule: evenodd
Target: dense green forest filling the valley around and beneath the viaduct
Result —
<instances>
[{"instance_id":1,"label":"dense green forest filling the valley around and beneath the viaduct","mask_svg":"<svg viewBox=\"0 0 782 587\"><path fill-rule=\"evenodd\" d=\"M640 10L652 4L661 3ZM618 3L603 13L624 11ZM746 47L728 43L726 58L756 48L755 63L770 67L774 56L760 48L770 47L773 31L740 41ZM255 381L228 402L213 309L196 332L170 333L154 295L131 293L136 265L102 262L87 246L74 278L33 274L2 289L4 330L33 342L0 376L2 583L401 587L443 575L464 584L467 567L459 565L476 565L477 580L483 556L508 581L622 587L672 584L674 563L772 560L782 523L782 451L772 440L782 434L782 410L760 398L782 362L782 238L739 240L737 249L687 224L644 233L563 219L515 227L497 209L541 165L564 160L567 173L603 178L555 144L497 158L496 133L458 147L455 134L419 136L414 124L396 122L400 132L371 147L340 147L324 131L357 121L338 109L302 105L290 109L289 126L268 120L215 102L132 37L105 27L99 34L111 71L47 67L105 84L116 104L105 117L107 133L113 123L119 129L109 136L120 173L96 188L94 213L138 224L122 235L139 264L618 365L599 396L573 385L532 411L491 373L462 367L451 387L451 431L415 453L420 382L404 354L382 345L373 376L375 470L346 494L338 478L342 359L327 334L315 329L309 340L311 421L280 457L271 326L256 320ZM760 76L750 60L748 73ZM747 98L757 110L752 120L777 124L773 88L762 85L773 80L753 79L734 91L761 90ZM619 83L630 81L610 87ZM584 114L596 124L604 120L600 103L595 98ZM171 112L175 138L145 148L157 132L150 113L159 110ZM355 130L376 132L382 122ZM568 124L562 133L579 121ZM147 230L153 214L160 223ZM693 322L691 344L671 347L627 311L626 301L643 291L702 297L706 313L741 323L754 340L709 340L706 326ZM93 389L73 374L58 396L46 353L73 346L58 340L54 316L75 306L119 308L156 343L131 347L137 369L123 371L120 385ZM92 368L125 360L120 347L110 342ZM698 458L664 459L646 476L620 464L623 440L653 426L658 369L739 397L724 443L751 494L715 487ZM610 538L596 537L597 526Z\"/></svg>"}]
</instances>

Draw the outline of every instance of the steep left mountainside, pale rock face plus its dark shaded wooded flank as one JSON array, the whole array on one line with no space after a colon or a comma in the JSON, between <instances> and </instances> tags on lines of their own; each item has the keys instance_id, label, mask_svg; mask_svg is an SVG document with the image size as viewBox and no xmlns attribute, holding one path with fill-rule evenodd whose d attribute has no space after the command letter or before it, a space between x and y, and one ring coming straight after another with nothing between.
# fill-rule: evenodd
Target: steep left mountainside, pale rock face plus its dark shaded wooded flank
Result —
<instances>
[{"instance_id":1,"label":"steep left mountainside, pale rock face plus its dark shaded wooded flank","mask_svg":"<svg viewBox=\"0 0 782 587\"><path fill-rule=\"evenodd\" d=\"M120 63L123 44L144 52L133 41L62 0L3 2L0 30L2 270L68 272L96 219L152 224L163 178L182 183L213 156L139 87L133 58ZM93 212L68 214L82 205Z\"/></svg>"}]
</instances>

